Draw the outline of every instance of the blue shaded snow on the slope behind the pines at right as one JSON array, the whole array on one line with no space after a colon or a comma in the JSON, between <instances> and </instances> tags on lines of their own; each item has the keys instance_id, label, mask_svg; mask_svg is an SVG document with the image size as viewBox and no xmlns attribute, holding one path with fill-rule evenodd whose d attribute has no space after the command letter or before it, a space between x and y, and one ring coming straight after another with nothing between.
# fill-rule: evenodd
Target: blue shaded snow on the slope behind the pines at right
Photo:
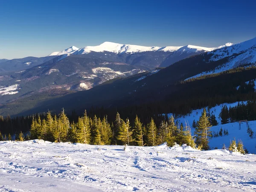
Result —
<instances>
[{"instance_id":1,"label":"blue shaded snow on the slope behind the pines at right","mask_svg":"<svg viewBox=\"0 0 256 192\"><path fill-rule=\"evenodd\" d=\"M240 102L241 103L241 102ZM244 102L246 103L246 102ZM256 154L256 121L249 121L248 124L250 128L254 131L253 138L249 137L249 134L247 133L247 125L246 122L241 123L241 130L239 130L239 122L234 123L228 123L221 125L221 119L218 118L219 113L221 112L221 108L223 105L227 105L227 108L234 107L238 104L238 102L235 103L224 103L221 105L217 105L210 109L211 114L215 114L216 120L219 125L213 126L211 128L211 131L219 132L221 127L224 131L224 129L227 129L229 132L229 135L223 135L222 137L212 137L212 139L209 140L209 145L211 148L222 148L223 144L228 147L230 145L230 140L233 140L236 138L236 141L242 140L244 147L248 149L249 153ZM190 127L192 127L193 120L195 119L195 122L199 120L199 117L201 116L201 113L203 111L202 109L193 110L192 113L186 115L186 116L180 116L175 119L180 123L183 123L185 126L185 121L189 122ZM168 116L171 116L172 113L168 114ZM194 128L191 128L192 135L195 131Z\"/></svg>"}]
</instances>

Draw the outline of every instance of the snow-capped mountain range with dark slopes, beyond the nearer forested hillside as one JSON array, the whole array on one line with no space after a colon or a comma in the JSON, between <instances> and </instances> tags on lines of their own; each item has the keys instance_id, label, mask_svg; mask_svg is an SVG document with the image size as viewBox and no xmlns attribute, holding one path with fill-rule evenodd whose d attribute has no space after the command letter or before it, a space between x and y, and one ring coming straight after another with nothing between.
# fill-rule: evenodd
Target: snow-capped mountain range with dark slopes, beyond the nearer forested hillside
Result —
<instances>
[{"instance_id":1,"label":"snow-capped mountain range with dark slopes, beyond the nearer forested hillside","mask_svg":"<svg viewBox=\"0 0 256 192\"><path fill-rule=\"evenodd\" d=\"M46 58L53 58L24 71L0 73L0 114L159 101L180 90L179 81L254 65L255 52L256 38L216 48L143 47L111 42L81 49L73 46L51 53ZM99 84L102 85L96 86ZM86 91L74 93L78 90ZM69 104L71 99L77 105ZM26 102L33 109L28 110Z\"/></svg>"}]
</instances>

